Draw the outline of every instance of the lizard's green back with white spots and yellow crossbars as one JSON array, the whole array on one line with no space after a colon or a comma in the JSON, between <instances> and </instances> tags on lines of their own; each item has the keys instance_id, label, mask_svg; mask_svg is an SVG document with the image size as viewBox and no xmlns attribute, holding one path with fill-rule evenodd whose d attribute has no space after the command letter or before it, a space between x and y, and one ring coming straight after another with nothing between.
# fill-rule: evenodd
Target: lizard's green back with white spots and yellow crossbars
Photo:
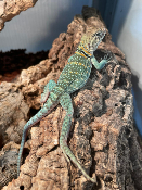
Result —
<instances>
[{"instance_id":1,"label":"lizard's green back with white spots and yellow crossbars","mask_svg":"<svg viewBox=\"0 0 142 190\"><path fill-rule=\"evenodd\" d=\"M90 75L91 64L87 56L75 53L62 71L56 86L51 91L59 98L64 92L72 93L80 88L80 79ZM76 88L74 88L76 86Z\"/></svg>"}]
</instances>

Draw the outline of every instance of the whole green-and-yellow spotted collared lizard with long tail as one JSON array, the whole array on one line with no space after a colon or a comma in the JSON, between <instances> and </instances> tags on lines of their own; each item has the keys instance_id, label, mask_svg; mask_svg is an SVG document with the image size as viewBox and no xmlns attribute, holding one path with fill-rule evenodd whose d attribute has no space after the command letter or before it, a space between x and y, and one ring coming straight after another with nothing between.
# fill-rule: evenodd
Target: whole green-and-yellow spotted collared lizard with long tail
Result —
<instances>
[{"instance_id":1,"label":"whole green-and-yellow spotted collared lizard with long tail","mask_svg":"<svg viewBox=\"0 0 142 190\"><path fill-rule=\"evenodd\" d=\"M60 136L60 147L62 149L62 152L64 153L67 162L72 161L81 170L87 180L96 183L96 177L91 178L86 173L86 170L82 168L80 163L77 161L68 148L67 138L74 113L70 93L85 86L90 76L92 65L94 65L94 67L100 71L111 59L108 58L108 54L106 54L104 59L101 59L101 62L99 63L93 55L93 52L98 49L98 46L104 38L105 34L105 28L90 27L90 29L88 29L81 37L80 43L75 53L68 59L68 62L63 68L57 83L50 80L44 86L40 100L43 106L26 123L23 129L21 148L17 159L17 177L20 175L21 159L28 129L46 115L48 115L60 103L61 106L66 111Z\"/></svg>"}]
</instances>

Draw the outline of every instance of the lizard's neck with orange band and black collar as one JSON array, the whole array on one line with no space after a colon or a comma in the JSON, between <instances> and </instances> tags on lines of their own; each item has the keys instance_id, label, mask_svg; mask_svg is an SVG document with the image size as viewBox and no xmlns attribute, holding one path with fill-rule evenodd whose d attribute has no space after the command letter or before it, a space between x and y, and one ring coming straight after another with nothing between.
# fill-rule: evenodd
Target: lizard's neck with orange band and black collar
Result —
<instances>
[{"instance_id":1,"label":"lizard's neck with orange band and black collar","mask_svg":"<svg viewBox=\"0 0 142 190\"><path fill-rule=\"evenodd\" d=\"M89 52L87 46L81 41L75 52L75 54L79 54L86 59L91 58L92 54Z\"/></svg>"}]
</instances>

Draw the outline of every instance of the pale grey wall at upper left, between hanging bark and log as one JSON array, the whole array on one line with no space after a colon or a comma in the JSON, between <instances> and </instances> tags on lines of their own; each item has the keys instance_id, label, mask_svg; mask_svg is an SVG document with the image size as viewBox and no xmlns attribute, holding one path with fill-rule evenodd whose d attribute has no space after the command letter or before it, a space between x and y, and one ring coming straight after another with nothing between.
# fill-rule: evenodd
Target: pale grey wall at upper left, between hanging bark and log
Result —
<instances>
[{"instance_id":1,"label":"pale grey wall at upper left, between hanging bark and log","mask_svg":"<svg viewBox=\"0 0 142 190\"><path fill-rule=\"evenodd\" d=\"M34 8L5 23L0 33L0 50L49 50L60 33L66 31L75 14L92 0L38 0Z\"/></svg>"}]
</instances>

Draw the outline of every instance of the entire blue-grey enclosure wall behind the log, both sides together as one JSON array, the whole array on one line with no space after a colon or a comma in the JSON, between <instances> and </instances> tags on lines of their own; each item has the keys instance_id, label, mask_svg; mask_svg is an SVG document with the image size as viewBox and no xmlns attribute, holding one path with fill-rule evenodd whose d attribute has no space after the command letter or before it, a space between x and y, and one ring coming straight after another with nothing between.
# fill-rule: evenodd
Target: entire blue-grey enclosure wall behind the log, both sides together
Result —
<instances>
[{"instance_id":1,"label":"entire blue-grey enclosure wall behind the log, both sides together","mask_svg":"<svg viewBox=\"0 0 142 190\"><path fill-rule=\"evenodd\" d=\"M81 13L82 5L101 11L113 41L126 54L133 74L134 119L142 134L142 0L38 0L34 8L5 23L0 50L49 50L74 15Z\"/></svg>"}]
</instances>

